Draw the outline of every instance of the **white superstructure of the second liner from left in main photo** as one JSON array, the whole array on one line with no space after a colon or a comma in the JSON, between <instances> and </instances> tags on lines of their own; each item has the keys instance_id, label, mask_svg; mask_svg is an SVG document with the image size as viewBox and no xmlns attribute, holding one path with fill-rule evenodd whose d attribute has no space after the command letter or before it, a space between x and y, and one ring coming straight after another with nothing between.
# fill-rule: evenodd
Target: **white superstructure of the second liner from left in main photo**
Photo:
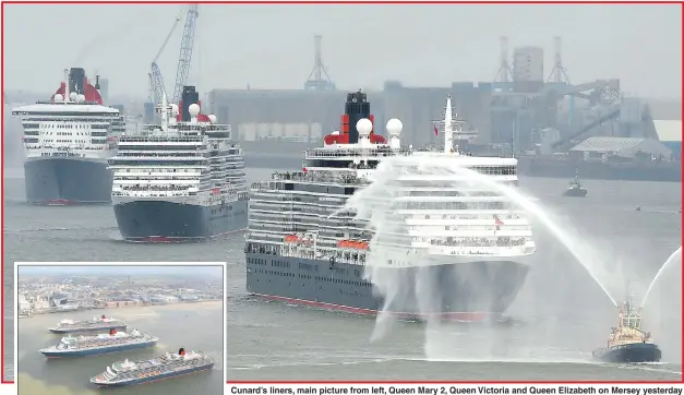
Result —
<instances>
[{"instance_id":1,"label":"white superstructure of the second liner from left in main photo","mask_svg":"<svg viewBox=\"0 0 684 395\"><path fill-rule=\"evenodd\" d=\"M190 122L178 122L179 108L164 98L160 124L122 136L113 170L115 204L167 201L209 206L247 194L241 148L231 141L230 125L199 121L200 106L189 107Z\"/></svg>"}]
</instances>

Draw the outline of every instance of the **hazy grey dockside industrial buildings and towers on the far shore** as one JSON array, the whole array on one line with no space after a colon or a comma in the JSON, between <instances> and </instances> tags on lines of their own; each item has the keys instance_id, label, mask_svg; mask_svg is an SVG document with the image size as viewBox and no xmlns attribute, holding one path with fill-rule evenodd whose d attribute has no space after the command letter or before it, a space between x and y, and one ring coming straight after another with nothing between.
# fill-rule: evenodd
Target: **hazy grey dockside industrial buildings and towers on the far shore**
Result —
<instances>
[{"instance_id":1,"label":"hazy grey dockside industrial buildings and towers on the far shore","mask_svg":"<svg viewBox=\"0 0 684 395\"><path fill-rule=\"evenodd\" d=\"M640 98L624 97L619 80L571 83L555 38L553 64L545 75L544 50L518 47L508 57L501 39L501 63L493 81L454 82L445 87L408 87L387 81L380 92L368 92L377 124L389 118L404 123L406 144L439 144L432 125L442 118L447 95L466 128L478 131L475 145L505 145L517 154L567 152L593 136L658 139L650 109ZM300 91L213 89L209 110L231 123L247 152L271 151L266 142L321 144L339 127L346 92L337 91L321 57L315 37L315 64ZM384 128L376 132L383 133ZM553 133L548 133L553 130ZM550 141L552 136L552 141ZM274 145L287 151L287 144ZM265 144L265 145L264 145ZM473 149L477 151L477 149Z\"/></svg>"}]
</instances>

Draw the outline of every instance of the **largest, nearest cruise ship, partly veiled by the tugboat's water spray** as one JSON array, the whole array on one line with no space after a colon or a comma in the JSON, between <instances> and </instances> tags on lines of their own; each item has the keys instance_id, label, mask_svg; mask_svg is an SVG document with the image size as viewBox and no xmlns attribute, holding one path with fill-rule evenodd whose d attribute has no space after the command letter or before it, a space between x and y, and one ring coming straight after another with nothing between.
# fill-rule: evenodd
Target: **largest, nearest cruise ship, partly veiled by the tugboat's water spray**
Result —
<instances>
[{"instance_id":1,"label":"largest, nearest cruise ship, partly veiled by the tugboat's water spray","mask_svg":"<svg viewBox=\"0 0 684 395\"><path fill-rule=\"evenodd\" d=\"M454 145L459 127L451 98L442 121L442 152L401 147L403 124L387 122L388 142L374 133L365 94L347 95L340 131L324 146L308 149L302 171L276 172L251 185L245 242L247 290L272 300L361 314L385 311L406 319L425 315L454 321L499 320L524 284L536 252L525 213L507 199L473 189L455 176L418 175L401 180L393 212L406 229L384 244L352 213L339 213L355 192L368 187L387 157L419 157L456 163L517 185L513 157L476 157ZM454 129L456 128L456 129ZM435 127L436 130L436 127ZM469 134L472 134L470 132ZM470 139L466 135L467 139ZM455 182L460 185L454 188ZM335 214L335 215L333 215ZM387 236L387 235L385 235ZM388 240L388 241L387 241ZM372 259L392 249L394 259ZM420 263L405 259L421 253ZM398 256L398 258L397 258ZM374 267L368 267L373 262ZM364 275L403 278L403 300L385 306ZM419 307L416 279L432 284L432 310Z\"/></svg>"}]
</instances>

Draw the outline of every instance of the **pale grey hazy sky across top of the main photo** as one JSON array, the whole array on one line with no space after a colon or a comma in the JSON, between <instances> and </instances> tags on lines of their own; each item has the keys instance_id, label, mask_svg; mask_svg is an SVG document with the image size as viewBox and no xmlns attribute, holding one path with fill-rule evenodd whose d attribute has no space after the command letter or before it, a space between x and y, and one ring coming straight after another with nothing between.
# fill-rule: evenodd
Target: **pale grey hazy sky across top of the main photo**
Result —
<instances>
[{"instance_id":1,"label":"pale grey hazy sky across top of the main photo","mask_svg":"<svg viewBox=\"0 0 684 395\"><path fill-rule=\"evenodd\" d=\"M172 91L183 7L178 4L4 4L4 89L59 87L63 69L83 67L110 80L110 95L147 96L157 60ZM563 39L571 82L616 77L628 95L679 98L679 4L200 5L189 83L213 88L301 88L314 65L313 36L341 89L492 81L500 37L509 47L544 48L553 65ZM511 53L513 50L511 50Z\"/></svg>"}]
</instances>

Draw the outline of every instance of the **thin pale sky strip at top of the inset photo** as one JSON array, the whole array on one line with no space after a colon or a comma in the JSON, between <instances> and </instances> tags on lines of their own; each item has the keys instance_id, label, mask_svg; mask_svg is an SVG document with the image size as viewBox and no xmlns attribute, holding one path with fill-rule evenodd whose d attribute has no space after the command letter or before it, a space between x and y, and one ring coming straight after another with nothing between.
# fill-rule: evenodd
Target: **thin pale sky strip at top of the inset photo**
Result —
<instances>
[{"instance_id":1,"label":"thin pale sky strip at top of the inset photo","mask_svg":"<svg viewBox=\"0 0 684 395\"><path fill-rule=\"evenodd\" d=\"M95 275L95 276L149 276L149 275L184 275L213 276L223 278L224 267L221 265L202 265L201 263L179 266L179 265L149 265L149 266L120 266L120 265L93 265L93 266L68 266L68 265L20 265L19 277L22 275L62 276L62 275Z\"/></svg>"}]
</instances>

